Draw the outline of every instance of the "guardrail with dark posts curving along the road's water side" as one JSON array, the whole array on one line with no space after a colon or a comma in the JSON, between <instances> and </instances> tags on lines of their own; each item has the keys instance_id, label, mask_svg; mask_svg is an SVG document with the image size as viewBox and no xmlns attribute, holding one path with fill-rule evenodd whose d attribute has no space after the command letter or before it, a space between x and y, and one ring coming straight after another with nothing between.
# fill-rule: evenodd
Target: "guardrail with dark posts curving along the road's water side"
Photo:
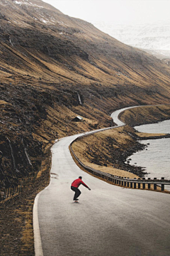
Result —
<instances>
[{"instance_id":1,"label":"guardrail with dark posts curving along the road's water side","mask_svg":"<svg viewBox=\"0 0 170 256\"><path fill-rule=\"evenodd\" d=\"M113 128L116 128L116 127L109 127L106 129L113 129ZM100 132L100 131L91 132L90 134L96 133L96 132ZM72 143L69 145L70 151L72 152L74 158L77 159L79 164L86 171L89 171L89 173L94 174L97 177L103 178L106 181L110 181L115 185L124 186L126 188L151 189L153 187L154 191L164 191L165 190L164 186L170 185L170 180L166 180L164 179L164 177L162 177L161 179L159 178L127 178L127 177L121 177L121 176L114 176L112 174L104 173L103 171L98 171L89 166L86 166L79 160L76 154L74 154L74 151L72 149L72 144L75 141L77 141L79 138L88 136L90 134L84 134L84 135L81 135L80 137L77 137L77 139L74 139L74 141L72 141ZM147 188L146 188L146 184L147 184Z\"/></svg>"}]
</instances>

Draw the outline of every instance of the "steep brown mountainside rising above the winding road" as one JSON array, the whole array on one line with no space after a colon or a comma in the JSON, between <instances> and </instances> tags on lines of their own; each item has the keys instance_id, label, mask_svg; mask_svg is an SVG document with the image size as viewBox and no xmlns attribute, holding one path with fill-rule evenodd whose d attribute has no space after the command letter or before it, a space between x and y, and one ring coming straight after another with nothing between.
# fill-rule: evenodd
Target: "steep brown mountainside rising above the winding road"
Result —
<instances>
[{"instance_id":1,"label":"steep brown mountainside rising above the winding road","mask_svg":"<svg viewBox=\"0 0 170 256\"><path fill-rule=\"evenodd\" d=\"M166 63L40 0L1 0L0 33L1 187L41 170L57 137L169 103Z\"/></svg>"}]
</instances>

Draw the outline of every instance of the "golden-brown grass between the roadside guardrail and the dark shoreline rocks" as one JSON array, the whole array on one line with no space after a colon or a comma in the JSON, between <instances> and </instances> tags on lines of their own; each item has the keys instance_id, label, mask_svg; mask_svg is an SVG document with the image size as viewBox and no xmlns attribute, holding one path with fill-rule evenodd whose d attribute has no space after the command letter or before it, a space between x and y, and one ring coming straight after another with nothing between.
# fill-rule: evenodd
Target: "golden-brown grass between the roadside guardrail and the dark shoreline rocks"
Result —
<instances>
[{"instance_id":1,"label":"golden-brown grass between the roadside guardrail and the dark shoreline rocks","mask_svg":"<svg viewBox=\"0 0 170 256\"><path fill-rule=\"evenodd\" d=\"M128 171L113 167L111 151L108 148L108 138L115 141L115 144L111 144L113 149L118 149L120 146L126 146L129 142L132 142L132 137L125 132L125 127L118 127L77 139L72 144L72 149L86 166L115 176L139 178L139 176ZM100 165L94 164L94 159L98 159ZM105 164L107 166L104 166Z\"/></svg>"}]
</instances>

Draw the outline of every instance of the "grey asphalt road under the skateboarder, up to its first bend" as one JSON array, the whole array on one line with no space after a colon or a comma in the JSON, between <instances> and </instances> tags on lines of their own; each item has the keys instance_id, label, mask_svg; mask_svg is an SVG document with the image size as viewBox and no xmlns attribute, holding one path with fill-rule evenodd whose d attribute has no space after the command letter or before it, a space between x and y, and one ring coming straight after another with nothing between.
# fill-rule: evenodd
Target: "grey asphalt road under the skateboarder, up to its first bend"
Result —
<instances>
[{"instance_id":1,"label":"grey asphalt road under the skateboarder, up to its first bend","mask_svg":"<svg viewBox=\"0 0 170 256\"><path fill-rule=\"evenodd\" d=\"M169 256L169 194L113 186L81 171L69 152L78 136L52 146L50 185L33 209L35 255ZM91 191L80 186L74 203L70 185L79 176Z\"/></svg>"}]
</instances>

